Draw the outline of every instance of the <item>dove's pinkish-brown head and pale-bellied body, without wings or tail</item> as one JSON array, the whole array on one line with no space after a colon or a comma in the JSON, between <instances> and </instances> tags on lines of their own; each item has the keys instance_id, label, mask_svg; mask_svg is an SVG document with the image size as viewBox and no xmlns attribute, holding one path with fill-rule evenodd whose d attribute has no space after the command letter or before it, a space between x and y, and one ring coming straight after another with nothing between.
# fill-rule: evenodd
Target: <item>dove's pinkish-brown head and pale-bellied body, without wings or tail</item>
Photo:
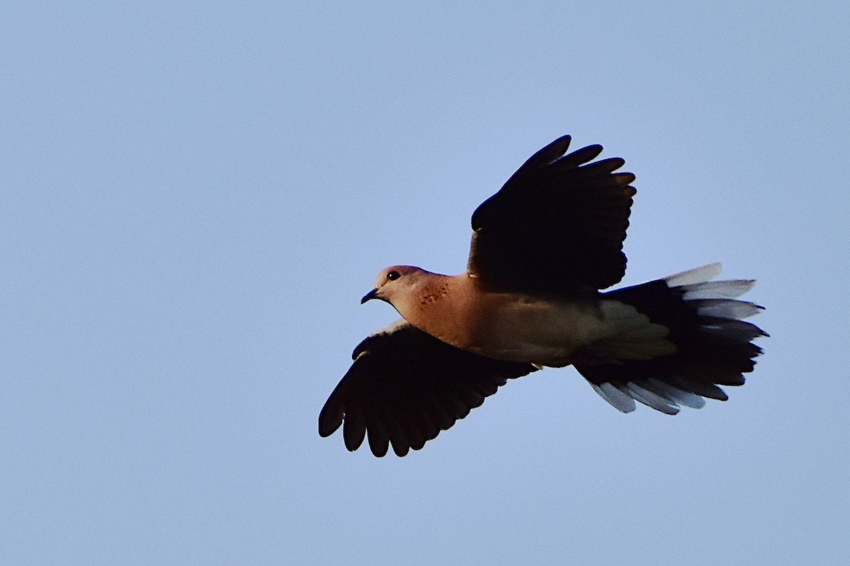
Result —
<instances>
[{"instance_id":1,"label":"dove's pinkish-brown head and pale-bellied body, without wings or tail","mask_svg":"<svg viewBox=\"0 0 850 566\"><path fill-rule=\"evenodd\" d=\"M399 292L384 288L390 272L405 280ZM665 327L618 300L491 291L480 289L474 274L452 277L412 266L388 267L378 276L376 289L374 298L393 305L414 327L461 350L497 360L563 367L585 348L607 347L611 355L629 359L675 350L665 339Z\"/></svg>"}]
</instances>

